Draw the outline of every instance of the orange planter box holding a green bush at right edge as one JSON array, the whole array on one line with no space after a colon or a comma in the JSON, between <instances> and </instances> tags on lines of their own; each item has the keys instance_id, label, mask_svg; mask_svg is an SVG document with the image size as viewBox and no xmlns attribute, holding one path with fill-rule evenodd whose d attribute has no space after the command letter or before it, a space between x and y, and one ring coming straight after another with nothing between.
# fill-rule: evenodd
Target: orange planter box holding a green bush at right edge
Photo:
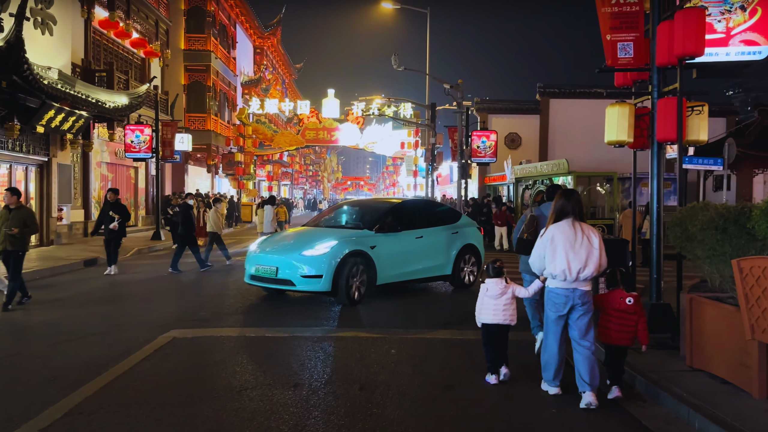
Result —
<instances>
[{"instance_id":1,"label":"orange planter box holding a green bush at right edge","mask_svg":"<svg viewBox=\"0 0 768 432\"><path fill-rule=\"evenodd\" d=\"M696 294L688 294L686 302L685 363L729 380L756 399L768 397L766 344L746 340L739 307Z\"/></svg>"}]
</instances>

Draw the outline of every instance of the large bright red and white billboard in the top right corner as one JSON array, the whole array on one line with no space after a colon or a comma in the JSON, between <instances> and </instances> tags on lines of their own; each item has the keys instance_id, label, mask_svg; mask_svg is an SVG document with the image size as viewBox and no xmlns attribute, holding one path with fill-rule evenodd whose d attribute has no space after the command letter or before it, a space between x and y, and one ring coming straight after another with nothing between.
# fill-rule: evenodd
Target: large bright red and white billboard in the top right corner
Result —
<instances>
[{"instance_id":1,"label":"large bright red and white billboard in the top right corner","mask_svg":"<svg viewBox=\"0 0 768 432\"><path fill-rule=\"evenodd\" d=\"M765 3L765 2L763 2ZM707 9L704 55L690 62L746 61L768 57L768 5L758 0L694 0ZM766 8L766 14L763 14Z\"/></svg>"}]
</instances>

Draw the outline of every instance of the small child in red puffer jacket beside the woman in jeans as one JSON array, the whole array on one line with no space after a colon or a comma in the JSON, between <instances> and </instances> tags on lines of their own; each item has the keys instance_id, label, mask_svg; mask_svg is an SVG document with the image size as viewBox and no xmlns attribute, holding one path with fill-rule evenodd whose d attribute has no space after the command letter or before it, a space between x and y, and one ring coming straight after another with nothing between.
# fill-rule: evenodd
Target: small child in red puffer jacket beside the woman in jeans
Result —
<instances>
[{"instance_id":1,"label":"small child in red puffer jacket beside the woman in jeans","mask_svg":"<svg viewBox=\"0 0 768 432\"><path fill-rule=\"evenodd\" d=\"M614 276L617 279L618 270ZM594 308L600 312L598 339L605 347L603 364L608 373L608 399L621 397L621 378L624 377L624 361L627 351L640 340L643 351L648 347L648 324L645 311L637 293L627 293L620 286L594 297Z\"/></svg>"}]
</instances>

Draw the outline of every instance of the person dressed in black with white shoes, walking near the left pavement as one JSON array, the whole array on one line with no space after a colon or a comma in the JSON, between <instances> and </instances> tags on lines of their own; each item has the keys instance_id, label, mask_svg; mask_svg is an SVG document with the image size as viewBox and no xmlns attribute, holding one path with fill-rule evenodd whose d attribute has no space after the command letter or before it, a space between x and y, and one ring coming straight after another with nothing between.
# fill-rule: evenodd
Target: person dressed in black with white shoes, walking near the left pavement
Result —
<instances>
[{"instance_id":1,"label":"person dressed in black with white shoes, walking near the left pavement","mask_svg":"<svg viewBox=\"0 0 768 432\"><path fill-rule=\"evenodd\" d=\"M120 202L120 189L107 189L107 200L98 212L98 218L91 230L95 237L104 226L104 251L107 252L107 271L104 274L118 274L118 255L125 238L125 224L131 221L131 212Z\"/></svg>"}]
</instances>

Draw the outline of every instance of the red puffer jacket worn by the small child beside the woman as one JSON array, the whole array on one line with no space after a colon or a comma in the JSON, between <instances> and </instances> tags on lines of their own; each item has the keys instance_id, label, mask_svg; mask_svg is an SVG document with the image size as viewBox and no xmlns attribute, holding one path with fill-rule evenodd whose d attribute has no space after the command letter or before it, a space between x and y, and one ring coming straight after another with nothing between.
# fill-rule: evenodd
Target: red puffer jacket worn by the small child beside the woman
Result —
<instances>
[{"instance_id":1,"label":"red puffer jacket worn by the small child beside the woman","mask_svg":"<svg viewBox=\"0 0 768 432\"><path fill-rule=\"evenodd\" d=\"M637 293L627 293L621 288L598 294L594 307L600 311L598 338L603 344L631 347L635 339L647 345L648 322Z\"/></svg>"}]
</instances>

